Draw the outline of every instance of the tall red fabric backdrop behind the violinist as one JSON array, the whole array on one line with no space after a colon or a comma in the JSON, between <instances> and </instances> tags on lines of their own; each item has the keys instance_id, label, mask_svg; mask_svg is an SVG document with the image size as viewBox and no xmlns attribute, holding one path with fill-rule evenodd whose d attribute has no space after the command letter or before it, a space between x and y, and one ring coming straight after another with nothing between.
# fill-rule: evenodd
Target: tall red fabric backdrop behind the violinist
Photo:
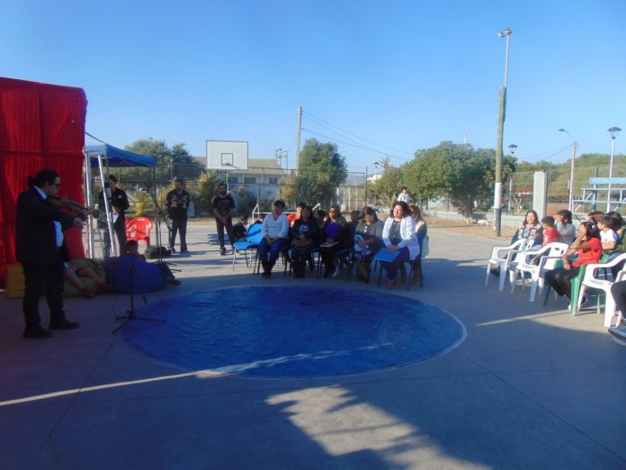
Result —
<instances>
[{"instance_id":1,"label":"tall red fabric backdrop behind the violinist","mask_svg":"<svg viewBox=\"0 0 626 470\"><path fill-rule=\"evenodd\" d=\"M61 176L59 195L82 203L87 99L81 88L0 77L0 285L15 260L15 204L28 176ZM70 258L85 256L81 231L67 230Z\"/></svg>"}]
</instances>

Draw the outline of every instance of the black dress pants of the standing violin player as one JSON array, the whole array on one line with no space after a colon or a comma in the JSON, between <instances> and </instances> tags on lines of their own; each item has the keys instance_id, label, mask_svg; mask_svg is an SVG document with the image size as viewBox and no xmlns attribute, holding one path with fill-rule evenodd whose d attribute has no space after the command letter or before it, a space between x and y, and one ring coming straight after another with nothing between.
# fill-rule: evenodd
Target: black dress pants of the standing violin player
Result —
<instances>
[{"instance_id":1,"label":"black dress pants of the standing violin player","mask_svg":"<svg viewBox=\"0 0 626 470\"><path fill-rule=\"evenodd\" d=\"M26 329L31 330L40 325L39 303L46 294L50 309L50 321L65 318L63 312L63 259L58 254L58 262L53 264L22 263L24 273L24 298L22 308Z\"/></svg>"}]
</instances>

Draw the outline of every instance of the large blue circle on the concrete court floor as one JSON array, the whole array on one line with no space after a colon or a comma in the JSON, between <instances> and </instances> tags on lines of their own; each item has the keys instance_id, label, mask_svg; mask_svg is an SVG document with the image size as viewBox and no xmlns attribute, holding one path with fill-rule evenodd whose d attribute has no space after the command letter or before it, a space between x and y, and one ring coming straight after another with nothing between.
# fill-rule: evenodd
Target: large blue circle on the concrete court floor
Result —
<instances>
[{"instance_id":1,"label":"large blue circle on the concrete court floor","mask_svg":"<svg viewBox=\"0 0 626 470\"><path fill-rule=\"evenodd\" d=\"M237 287L140 309L166 323L130 321L123 338L186 369L257 377L373 372L457 346L460 321L414 299L375 291Z\"/></svg>"}]
</instances>

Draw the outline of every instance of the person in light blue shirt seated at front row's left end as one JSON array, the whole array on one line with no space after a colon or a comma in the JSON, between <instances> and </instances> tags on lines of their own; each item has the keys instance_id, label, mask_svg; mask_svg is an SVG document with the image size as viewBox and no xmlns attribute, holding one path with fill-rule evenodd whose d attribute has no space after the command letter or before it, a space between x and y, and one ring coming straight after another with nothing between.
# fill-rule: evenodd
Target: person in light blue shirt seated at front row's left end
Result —
<instances>
[{"instance_id":1,"label":"person in light blue shirt seated at front row's left end","mask_svg":"<svg viewBox=\"0 0 626 470\"><path fill-rule=\"evenodd\" d=\"M289 219L282 213L284 208L284 201L274 201L272 213L267 214L263 220L263 239L259 243L258 252L265 278L272 276L272 268L281 250L289 243Z\"/></svg>"}]
</instances>

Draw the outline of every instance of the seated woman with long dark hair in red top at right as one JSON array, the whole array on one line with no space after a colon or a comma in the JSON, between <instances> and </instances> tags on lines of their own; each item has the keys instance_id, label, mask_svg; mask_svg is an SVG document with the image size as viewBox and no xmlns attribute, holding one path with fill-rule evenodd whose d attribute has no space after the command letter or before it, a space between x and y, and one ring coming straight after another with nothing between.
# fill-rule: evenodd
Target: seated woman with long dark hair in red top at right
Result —
<instances>
[{"instance_id":1,"label":"seated woman with long dark hair in red top at right","mask_svg":"<svg viewBox=\"0 0 626 470\"><path fill-rule=\"evenodd\" d=\"M570 257L577 255L574 261ZM570 279L578 276L580 267L590 263L597 263L602 258L602 243L600 231L592 221L581 222L578 227L578 236L570 249L563 255L563 267L551 269L546 273L548 283L561 297L567 295L571 299L572 286Z\"/></svg>"}]
</instances>

